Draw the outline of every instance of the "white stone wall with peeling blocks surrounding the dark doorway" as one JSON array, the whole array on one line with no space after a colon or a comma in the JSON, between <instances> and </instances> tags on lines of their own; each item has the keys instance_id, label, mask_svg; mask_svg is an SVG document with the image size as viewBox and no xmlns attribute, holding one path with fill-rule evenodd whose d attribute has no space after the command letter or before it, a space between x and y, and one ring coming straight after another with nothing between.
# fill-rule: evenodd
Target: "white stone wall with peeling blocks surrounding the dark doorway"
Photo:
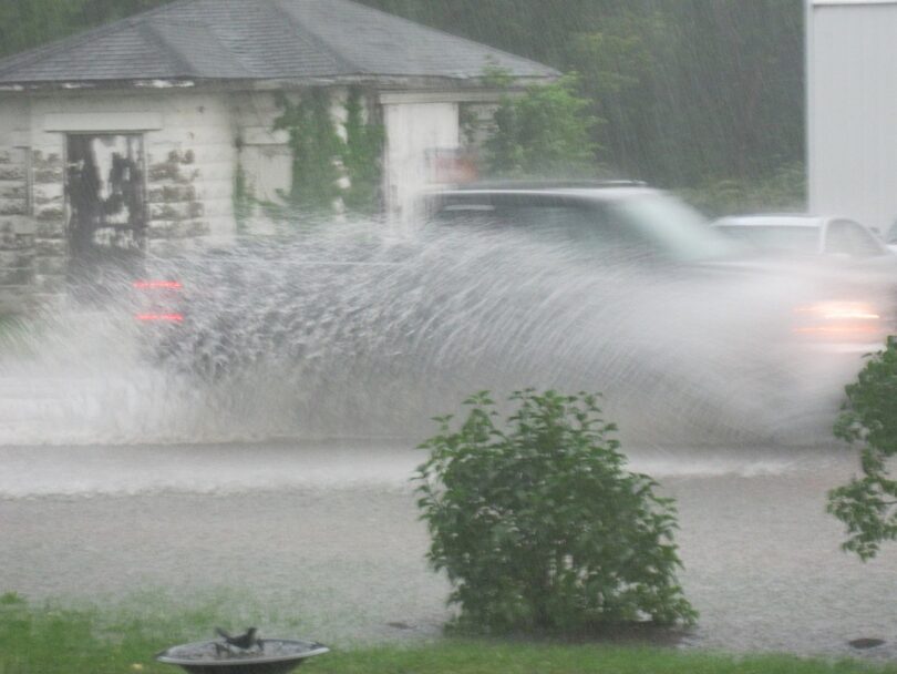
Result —
<instances>
[{"instance_id":1,"label":"white stone wall with peeling blocks surrounding the dark doorway","mask_svg":"<svg viewBox=\"0 0 897 674\"><path fill-rule=\"evenodd\" d=\"M64 288L70 133L143 136L151 254L233 237L236 149L226 95L156 90L6 99L0 100L0 286L25 280L39 297ZM9 253L13 245L16 259ZM13 294L22 295L20 288Z\"/></svg>"}]
</instances>

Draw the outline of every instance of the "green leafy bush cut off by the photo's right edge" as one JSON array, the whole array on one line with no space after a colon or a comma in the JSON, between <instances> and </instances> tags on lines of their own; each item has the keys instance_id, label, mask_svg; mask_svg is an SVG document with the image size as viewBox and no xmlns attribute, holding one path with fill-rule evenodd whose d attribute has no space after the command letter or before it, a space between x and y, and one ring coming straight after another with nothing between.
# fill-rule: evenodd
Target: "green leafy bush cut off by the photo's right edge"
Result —
<instances>
[{"instance_id":1,"label":"green leafy bush cut off by the photo's right edge","mask_svg":"<svg viewBox=\"0 0 897 674\"><path fill-rule=\"evenodd\" d=\"M897 337L888 337L845 391L835 436L863 443L863 477L828 492L828 512L847 525L842 548L866 561L897 539L897 481L887 470L897 453Z\"/></svg>"}]
</instances>

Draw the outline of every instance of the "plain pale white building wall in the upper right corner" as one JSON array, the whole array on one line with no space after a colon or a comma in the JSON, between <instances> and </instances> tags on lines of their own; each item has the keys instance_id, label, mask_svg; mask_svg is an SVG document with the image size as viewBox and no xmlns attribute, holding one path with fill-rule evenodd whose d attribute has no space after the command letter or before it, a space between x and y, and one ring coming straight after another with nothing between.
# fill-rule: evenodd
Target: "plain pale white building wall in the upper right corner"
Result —
<instances>
[{"instance_id":1,"label":"plain pale white building wall in the upper right corner","mask_svg":"<svg viewBox=\"0 0 897 674\"><path fill-rule=\"evenodd\" d=\"M807 25L810 208L897 219L897 3L814 2Z\"/></svg>"}]
</instances>

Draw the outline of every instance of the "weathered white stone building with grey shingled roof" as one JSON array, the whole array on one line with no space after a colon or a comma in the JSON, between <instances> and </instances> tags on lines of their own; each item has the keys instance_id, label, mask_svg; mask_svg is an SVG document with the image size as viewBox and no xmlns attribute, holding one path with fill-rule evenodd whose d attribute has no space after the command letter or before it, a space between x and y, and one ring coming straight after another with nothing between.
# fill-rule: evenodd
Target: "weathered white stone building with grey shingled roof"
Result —
<instances>
[{"instance_id":1,"label":"weathered white stone building with grey shingled roof","mask_svg":"<svg viewBox=\"0 0 897 674\"><path fill-rule=\"evenodd\" d=\"M350 91L384 131L384 214L408 214L460 110L557 72L349 0L181 0L0 61L0 310L72 268L233 236L238 184L274 201L292 154L279 100ZM465 114L470 111L465 111Z\"/></svg>"}]
</instances>

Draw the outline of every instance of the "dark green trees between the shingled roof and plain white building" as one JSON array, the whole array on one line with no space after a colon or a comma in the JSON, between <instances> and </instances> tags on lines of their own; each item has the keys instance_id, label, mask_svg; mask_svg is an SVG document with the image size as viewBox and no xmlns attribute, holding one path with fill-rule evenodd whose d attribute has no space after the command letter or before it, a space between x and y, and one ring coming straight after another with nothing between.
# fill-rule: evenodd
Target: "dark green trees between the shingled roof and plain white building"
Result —
<instances>
[{"instance_id":1,"label":"dark green trees between the shingled roof and plain white building","mask_svg":"<svg viewBox=\"0 0 897 674\"><path fill-rule=\"evenodd\" d=\"M579 73L618 174L749 185L803 161L802 0L364 1Z\"/></svg>"}]
</instances>

